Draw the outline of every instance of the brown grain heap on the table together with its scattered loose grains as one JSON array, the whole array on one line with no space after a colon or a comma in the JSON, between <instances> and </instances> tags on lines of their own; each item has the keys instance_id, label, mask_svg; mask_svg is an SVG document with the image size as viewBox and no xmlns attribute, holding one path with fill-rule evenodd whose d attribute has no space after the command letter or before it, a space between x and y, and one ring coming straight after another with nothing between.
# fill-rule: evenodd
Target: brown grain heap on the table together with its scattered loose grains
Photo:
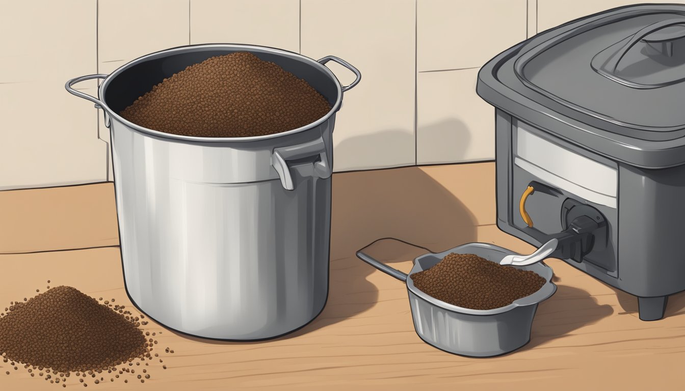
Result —
<instances>
[{"instance_id":1,"label":"brown grain heap on the table together with its scattered loose grains","mask_svg":"<svg viewBox=\"0 0 685 391\"><path fill-rule=\"evenodd\" d=\"M153 355L159 357L152 353L158 342L149 338L149 331L139 329L147 325L141 320L145 316L134 316L124 305L115 305L114 299L111 303L99 301L69 286L48 289L23 302L13 301L5 307L6 314L0 314L3 363L9 362L14 370L23 364L32 377L45 376L46 381L63 387L71 375L86 387L88 378L96 384L120 375L136 379L134 361L140 366L145 360L152 361ZM136 379L141 383L150 379L145 368L149 364L144 364ZM10 371L5 373L10 375Z\"/></svg>"}]
</instances>

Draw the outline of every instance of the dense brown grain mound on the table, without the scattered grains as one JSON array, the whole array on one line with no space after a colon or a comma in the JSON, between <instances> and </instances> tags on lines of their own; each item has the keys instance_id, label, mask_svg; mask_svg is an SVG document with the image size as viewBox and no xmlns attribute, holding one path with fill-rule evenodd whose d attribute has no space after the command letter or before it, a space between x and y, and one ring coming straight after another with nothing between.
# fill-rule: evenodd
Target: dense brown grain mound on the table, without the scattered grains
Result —
<instances>
[{"instance_id":1,"label":"dense brown grain mound on the table, without the scattered grains","mask_svg":"<svg viewBox=\"0 0 685 391\"><path fill-rule=\"evenodd\" d=\"M144 355L144 345L135 325L68 286L38 294L0 318L0 351L54 372L106 370Z\"/></svg>"}]
</instances>

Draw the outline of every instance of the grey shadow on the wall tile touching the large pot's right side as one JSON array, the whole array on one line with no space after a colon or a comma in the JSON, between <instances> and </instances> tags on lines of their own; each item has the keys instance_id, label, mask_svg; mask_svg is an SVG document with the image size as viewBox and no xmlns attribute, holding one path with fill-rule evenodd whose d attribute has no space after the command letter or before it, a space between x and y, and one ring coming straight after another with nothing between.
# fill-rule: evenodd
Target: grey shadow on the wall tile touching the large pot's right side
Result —
<instances>
[{"instance_id":1,"label":"grey shadow on the wall tile touching the large pot's right side","mask_svg":"<svg viewBox=\"0 0 685 391\"><path fill-rule=\"evenodd\" d=\"M333 140L340 132L333 131ZM377 166L414 164L414 132L390 129L345 138L335 144L333 168L336 171L366 170Z\"/></svg>"}]
</instances>

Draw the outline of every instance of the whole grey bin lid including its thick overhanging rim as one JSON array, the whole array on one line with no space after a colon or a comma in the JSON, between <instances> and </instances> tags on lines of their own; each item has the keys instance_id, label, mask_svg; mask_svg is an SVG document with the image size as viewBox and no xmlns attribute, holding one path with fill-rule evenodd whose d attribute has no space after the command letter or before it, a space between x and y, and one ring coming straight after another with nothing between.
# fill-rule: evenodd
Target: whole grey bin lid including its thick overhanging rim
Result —
<instances>
[{"instance_id":1,"label":"whole grey bin lid including its thick overhanging rim","mask_svg":"<svg viewBox=\"0 0 685 391\"><path fill-rule=\"evenodd\" d=\"M500 94L486 96L481 84ZM583 136L584 147L609 157L621 155L620 144L657 151L664 147L649 142L684 139L685 146L685 5L614 8L543 31L488 62L478 92L533 125L540 112L574 123L575 134L563 135L572 142L582 129L611 140L616 145L602 149ZM503 102L503 92L516 108ZM657 158L632 163L665 164Z\"/></svg>"}]
</instances>

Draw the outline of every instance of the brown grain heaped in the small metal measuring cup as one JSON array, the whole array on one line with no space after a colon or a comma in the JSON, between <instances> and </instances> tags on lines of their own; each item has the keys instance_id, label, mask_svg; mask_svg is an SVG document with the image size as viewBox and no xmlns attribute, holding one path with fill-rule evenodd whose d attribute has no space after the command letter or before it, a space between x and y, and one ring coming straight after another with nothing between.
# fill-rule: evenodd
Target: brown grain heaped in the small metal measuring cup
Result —
<instances>
[{"instance_id":1,"label":"brown grain heaped in the small metal measuring cup","mask_svg":"<svg viewBox=\"0 0 685 391\"><path fill-rule=\"evenodd\" d=\"M502 266L475 254L456 253L411 277L421 292L471 310L510 305L537 292L546 282L530 270Z\"/></svg>"}]
</instances>

